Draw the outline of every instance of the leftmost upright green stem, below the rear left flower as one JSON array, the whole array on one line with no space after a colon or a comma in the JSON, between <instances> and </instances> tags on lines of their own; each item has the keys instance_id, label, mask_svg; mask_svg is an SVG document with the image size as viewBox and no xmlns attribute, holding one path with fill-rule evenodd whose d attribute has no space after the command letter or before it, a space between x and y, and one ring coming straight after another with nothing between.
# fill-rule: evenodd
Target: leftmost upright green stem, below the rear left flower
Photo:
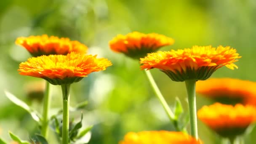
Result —
<instances>
[{"instance_id":1,"label":"leftmost upright green stem, below the rear left flower","mask_svg":"<svg viewBox=\"0 0 256 144\"><path fill-rule=\"evenodd\" d=\"M48 137L48 112L51 106L51 95L50 95L50 83L45 81L45 93L44 93L44 102L43 102L43 117L42 117L42 129L41 134L42 136L47 139Z\"/></svg>"}]
</instances>

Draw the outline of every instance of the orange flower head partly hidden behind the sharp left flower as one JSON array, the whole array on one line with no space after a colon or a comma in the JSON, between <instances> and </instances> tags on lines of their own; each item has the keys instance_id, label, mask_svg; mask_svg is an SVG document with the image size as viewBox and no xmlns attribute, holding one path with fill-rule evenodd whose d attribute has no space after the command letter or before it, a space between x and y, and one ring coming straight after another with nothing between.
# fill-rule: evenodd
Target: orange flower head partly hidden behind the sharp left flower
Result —
<instances>
[{"instance_id":1,"label":"orange flower head partly hidden behind the sharp left flower","mask_svg":"<svg viewBox=\"0 0 256 144\"><path fill-rule=\"evenodd\" d=\"M67 55L68 53L86 53L87 47L78 42L69 40L69 38L55 37L48 35L42 36L30 36L30 37L18 37L17 45L21 45L31 53L32 56L42 56L51 54Z\"/></svg>"}]
</instances>

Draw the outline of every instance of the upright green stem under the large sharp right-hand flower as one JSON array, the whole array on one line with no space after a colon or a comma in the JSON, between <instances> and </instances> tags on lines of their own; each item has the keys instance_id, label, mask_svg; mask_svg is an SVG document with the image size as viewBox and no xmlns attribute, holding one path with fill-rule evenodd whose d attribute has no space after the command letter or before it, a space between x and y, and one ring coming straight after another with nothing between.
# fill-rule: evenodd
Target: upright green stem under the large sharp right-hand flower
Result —
<instances>
[{"instance_id":1,"label":"upright green stem under the large sharp right-hand flower","mask_svg":"<svg viewBox=\"0 0 256 144\"><path fill-rule=\"evenodd\" d=\"M195 97L196 80L186 80L187 96L189 101L189 117L190 117L190 132L191 135L198 139L197 134L197 107Z\"/></svg>"}]
</instances>

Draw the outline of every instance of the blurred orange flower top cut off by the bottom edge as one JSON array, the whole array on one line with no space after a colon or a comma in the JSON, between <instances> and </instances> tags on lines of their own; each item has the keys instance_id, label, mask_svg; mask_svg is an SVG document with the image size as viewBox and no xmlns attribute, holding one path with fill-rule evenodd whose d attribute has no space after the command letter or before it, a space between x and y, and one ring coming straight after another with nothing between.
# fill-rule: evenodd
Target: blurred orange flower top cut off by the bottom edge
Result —
<instances>
[{"instance_id":1,"label":"blurred orange flower top cut off by the bottom edge","mask_svg":"<svg viewBox=\"0 0 256 144\"><path fill-rule=\"evenodd\" d=\"M119 144L202 144L202 142L182 132L141 131L127 133Z\"/></svg>"}]
</instances>

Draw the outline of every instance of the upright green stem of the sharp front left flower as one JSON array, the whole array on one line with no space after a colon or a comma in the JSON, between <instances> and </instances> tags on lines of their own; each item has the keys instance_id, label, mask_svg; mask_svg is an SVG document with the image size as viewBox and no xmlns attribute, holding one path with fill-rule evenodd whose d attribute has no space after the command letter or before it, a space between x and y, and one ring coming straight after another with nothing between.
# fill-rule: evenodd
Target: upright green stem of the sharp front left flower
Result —
<instances>
[{"instance_id":1,"label":"upright green stem of the sharp front left flower","mask_svg":"<svg viewBox=\"0 0 256 144\"><path fill-rule=\"evenodd\" d=\"M61 85L63 96L62 144L69 144L69 88L70 84Z\"/></svg>"}]
</instances>

